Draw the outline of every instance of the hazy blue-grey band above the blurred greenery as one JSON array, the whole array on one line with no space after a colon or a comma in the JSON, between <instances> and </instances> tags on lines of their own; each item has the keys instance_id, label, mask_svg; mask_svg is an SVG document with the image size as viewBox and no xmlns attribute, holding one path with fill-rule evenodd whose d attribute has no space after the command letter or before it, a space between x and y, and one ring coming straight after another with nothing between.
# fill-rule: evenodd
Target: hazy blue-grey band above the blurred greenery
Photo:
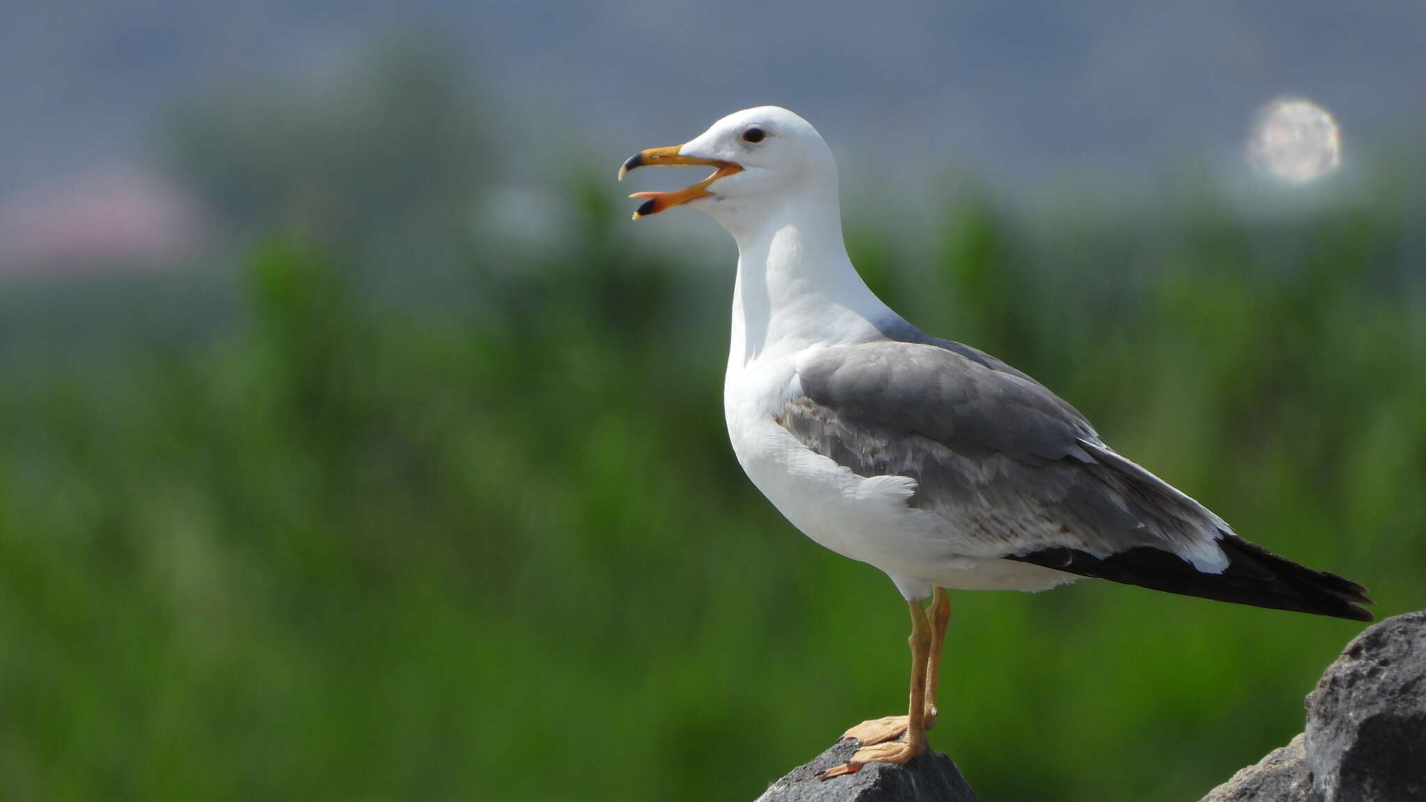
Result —
<instances>
[{"instance_id":1,"label":"hazy blue-grey band above the blurred greenery","mask_svg":"<svg viewBox=\"0 0 1426 802\"><path fill-rule=\"evenodd\" d=\"M0 201L147 158L177 101L321 81L394 31L449 40L508 153L610 164L761 103L809 117L856 170L954 170L1012 197L1235 160L1281 94L1339 117L1348 166L1352 147L1415 147L1426 123L1415 0L10 0L0 20Z\"/></svg>"}]
</instances>

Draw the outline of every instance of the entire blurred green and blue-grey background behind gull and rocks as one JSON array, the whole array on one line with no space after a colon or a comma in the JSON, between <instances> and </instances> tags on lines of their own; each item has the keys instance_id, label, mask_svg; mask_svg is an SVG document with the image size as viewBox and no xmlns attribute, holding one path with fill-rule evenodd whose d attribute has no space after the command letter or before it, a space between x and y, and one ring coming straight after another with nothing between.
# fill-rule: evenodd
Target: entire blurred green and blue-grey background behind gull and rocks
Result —
<instances>
[{"instance_id":1,"label":"entire blurred green and blue-grey background behind gull and rocks","mask_svg":"<svg viewBox=\"0 0 1426 802\"><path fill-rule=\"evenodd\" d=\"M894 588L727 445L730 238L613 181L763 103L893 307L1426 606L1417 3L0 21L4 799L746 801L903 709ZM953 599L931 742L987 802L1198 799L1359 631Z\"/></svg>"}]
</instances>

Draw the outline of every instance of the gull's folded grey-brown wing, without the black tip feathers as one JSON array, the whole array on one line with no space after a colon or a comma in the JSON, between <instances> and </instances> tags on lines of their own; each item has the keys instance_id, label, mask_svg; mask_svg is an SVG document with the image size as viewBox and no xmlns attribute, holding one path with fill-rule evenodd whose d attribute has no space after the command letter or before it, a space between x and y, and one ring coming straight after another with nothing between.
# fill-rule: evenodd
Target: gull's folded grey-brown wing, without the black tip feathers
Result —
<instances>
[{"instance_id":1,"label":"gull's folded grey-brown wing, without the black tip feathers","mask_svg":"<svg viewBox=\"0 0 1426 802\"><path fill-rule=\"evenodd\" d=\"M917 481L911 504L953 522L978 555L1135 547L1224 564L1216 515L1114 454L1074 407L960 344L819 350L779 422L864 477Z\"/></svg>"}]
</instances>

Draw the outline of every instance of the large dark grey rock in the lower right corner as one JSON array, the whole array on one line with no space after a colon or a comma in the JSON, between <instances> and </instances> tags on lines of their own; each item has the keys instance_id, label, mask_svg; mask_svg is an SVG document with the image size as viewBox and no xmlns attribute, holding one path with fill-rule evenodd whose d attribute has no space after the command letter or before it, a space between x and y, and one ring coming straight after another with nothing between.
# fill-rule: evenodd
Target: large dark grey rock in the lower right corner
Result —
<instances>
[{"instance_id":1,"label":"large dark grey rock in the lower right corner","mask_svg":"<svg viewBox=\"0 0 1426 802\"><path fill-rule=\"evenodd\" d=\"M1308 696L1323 802L1426 801L1426 611L1358 635Z\"/></svg>"}]
</instances>

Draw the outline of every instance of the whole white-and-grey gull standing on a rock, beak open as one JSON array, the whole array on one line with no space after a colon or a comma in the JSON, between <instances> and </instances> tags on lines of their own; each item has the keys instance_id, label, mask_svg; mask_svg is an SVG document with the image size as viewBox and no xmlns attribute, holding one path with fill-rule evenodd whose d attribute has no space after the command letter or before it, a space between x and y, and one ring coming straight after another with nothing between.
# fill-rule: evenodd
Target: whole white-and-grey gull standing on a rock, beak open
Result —
<instances>
[{"instance_id":1,"label":"whole white-and-grey gull standing on a rock, beak open","mask_svg":"<svg viewBox=\"0 0 1426 802\"><path fill-rule=\"evenodd\" d=\"M881 303L847 257L831 148L797 114L729 114L689 143L635 154L619 178L660 164L713 174L635 193L635 220L686 205L737 241L723 411L739 464L809 538L886 572L910 609L907 715L848 729L857 752L823 779L925 751L947 589L1094 577L1372 619L1362 585L1238 537L1035 380Z\"/></svg>"}]
</instances>

